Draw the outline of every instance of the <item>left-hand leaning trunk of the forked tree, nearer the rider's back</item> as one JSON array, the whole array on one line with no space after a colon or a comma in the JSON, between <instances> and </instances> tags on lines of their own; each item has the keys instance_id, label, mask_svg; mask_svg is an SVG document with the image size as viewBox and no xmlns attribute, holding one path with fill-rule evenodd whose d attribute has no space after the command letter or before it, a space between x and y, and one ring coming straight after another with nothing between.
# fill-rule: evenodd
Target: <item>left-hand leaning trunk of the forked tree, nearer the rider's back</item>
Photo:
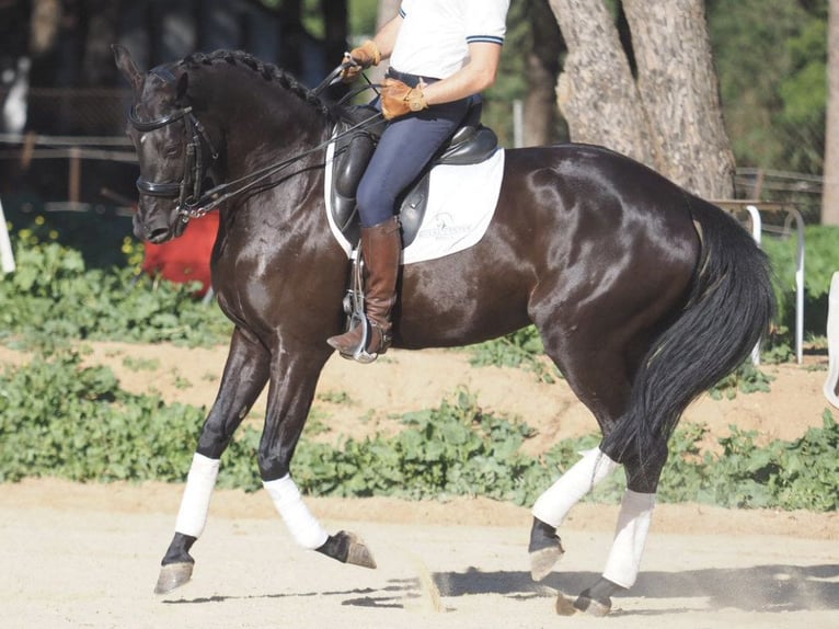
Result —
<instances>
[{"instance_id":1,"label":"left-hand leaning trunk of the forked tree, nearer the rider's back","mask_svg":"<svg viewBox=\"0 0 839 629\"><path fill-rule=\"evenodd\" d=\"M602 0L550 0L568 56L556 84L571 139L654 164L647 124L618 30Z\"/></svg>"}]
</instances>

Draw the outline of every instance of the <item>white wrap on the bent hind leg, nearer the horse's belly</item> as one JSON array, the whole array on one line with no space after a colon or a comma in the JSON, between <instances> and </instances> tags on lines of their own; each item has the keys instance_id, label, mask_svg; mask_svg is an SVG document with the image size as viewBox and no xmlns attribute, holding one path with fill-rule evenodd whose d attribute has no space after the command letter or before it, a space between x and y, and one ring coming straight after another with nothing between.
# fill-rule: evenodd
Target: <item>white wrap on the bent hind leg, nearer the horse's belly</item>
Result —
<instances>
[{"instance_id":1,"label":"white wrap on the bent hind leg, nearer the horse's belly","mask_svg":"<svg viewBox=\"0 0 839 629\"><path fill-rule=\"evenodd\" d=\"M619 465L600 451L600 448L582 454L583 458L536 501L532 511L535 517L551 526L560 526L571 507Z\"/></svg>"}]
</instances>

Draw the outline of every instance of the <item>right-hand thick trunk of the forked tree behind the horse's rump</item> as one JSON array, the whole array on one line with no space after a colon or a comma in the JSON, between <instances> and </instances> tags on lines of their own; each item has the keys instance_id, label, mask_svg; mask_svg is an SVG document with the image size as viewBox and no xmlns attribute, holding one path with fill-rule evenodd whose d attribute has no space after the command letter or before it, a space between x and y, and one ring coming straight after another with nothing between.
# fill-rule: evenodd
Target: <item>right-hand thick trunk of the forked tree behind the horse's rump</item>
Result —
<instances>
[{"instance_id":1,"label":"right-hand thick trunk of the forked tree behind the horse's rump","mask_svg":"<svg viewBox=\"0 0 839 629\"><path fill-rule=\"evenodd\" d=\"M709 198L734 194L704 0L623 0L655 167Z\"/></svg>"}]
</instances>

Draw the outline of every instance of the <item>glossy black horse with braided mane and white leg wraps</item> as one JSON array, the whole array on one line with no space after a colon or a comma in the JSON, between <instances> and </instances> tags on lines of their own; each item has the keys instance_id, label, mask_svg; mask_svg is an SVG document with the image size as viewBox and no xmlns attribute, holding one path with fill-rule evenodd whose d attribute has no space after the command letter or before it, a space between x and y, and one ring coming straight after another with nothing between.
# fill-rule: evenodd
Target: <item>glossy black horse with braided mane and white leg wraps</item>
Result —
<instances>
[{"instance_id":1,"label":"glossy black horse with braided mane and white leg wraps","mask_svg":"<svg viewBox=\"0 0 839 629\"><path fill-rule=\"evenodd\" d=\"M308 548L375 567L354 535L321 528L289 476L332 354L326 339L345 324L348 261L323 193L334 115L244 53L196 54L146 75L124 48L115 55L135 92L135 232L175 238L206 209L198 199L214 198L212 282L235 323L157 591L191 577L219 459L266 384L260 472L289 530ZM567 510L622 465L629 489L612 554L574 604L604 614L610 595L634 582L682 411L748 356L772 314L766 256L732 217L623 156L572 144L506 151L478 244L403 265L393 346L466 345L536 324L604 438L537 502L533 576L561 556L556 527Z\"/></svg>"}]
</instances>

